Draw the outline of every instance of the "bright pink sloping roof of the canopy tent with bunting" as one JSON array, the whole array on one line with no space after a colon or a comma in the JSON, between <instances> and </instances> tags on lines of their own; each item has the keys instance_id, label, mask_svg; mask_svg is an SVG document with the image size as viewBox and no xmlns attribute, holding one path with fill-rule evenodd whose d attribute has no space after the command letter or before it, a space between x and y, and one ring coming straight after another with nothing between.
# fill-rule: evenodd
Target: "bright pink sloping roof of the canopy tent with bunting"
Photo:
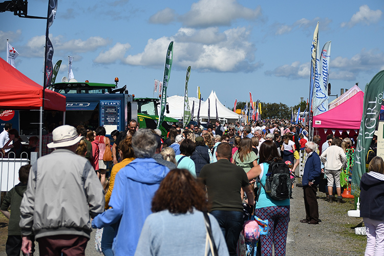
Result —
<instances>
[{"instance_id":1,"label":"bright pink sloping roof of the canopy tent with bunting","mask_svg":"<svg viewBox=\"0 0 384 256\"><path fill-rule=\"evenodd\" d=\"M313 127L328 129L360 129L364 92L359 91L351 98L327 112L313 117Z\"/></svg>"}]
</instances>

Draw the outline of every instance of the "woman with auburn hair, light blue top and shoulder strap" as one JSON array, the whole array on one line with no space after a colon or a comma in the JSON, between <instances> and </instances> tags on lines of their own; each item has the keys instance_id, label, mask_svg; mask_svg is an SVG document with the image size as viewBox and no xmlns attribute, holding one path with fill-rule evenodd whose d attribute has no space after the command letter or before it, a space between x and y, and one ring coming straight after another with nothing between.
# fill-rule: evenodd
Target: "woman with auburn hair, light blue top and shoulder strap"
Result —
<instances>
[{"instance_id":1,"label":"woman with auburn hair, light blue top and shoulder strap","mask_svg":"<svg viewBox=\"0 0 384 256\"><path fill-rule=\"evenodd\" d=\"M154 213L145 220L135 256L229 255L219 223L206 210L198 181L186 169L171 170L152 200Z\"/></svg>"}]
</instances>

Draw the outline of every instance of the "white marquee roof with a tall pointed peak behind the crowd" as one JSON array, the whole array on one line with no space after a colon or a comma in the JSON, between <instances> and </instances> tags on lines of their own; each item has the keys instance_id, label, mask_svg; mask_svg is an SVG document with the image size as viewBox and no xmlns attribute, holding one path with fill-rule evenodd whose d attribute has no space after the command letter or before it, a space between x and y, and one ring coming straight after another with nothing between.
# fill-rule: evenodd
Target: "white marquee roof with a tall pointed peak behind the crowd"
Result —
<instances>
[{"instance_id":1,"label":"white marquee roof with a tall pointed peak behind the crowd","mask_svg":"<svg viewBox=\"0 0 384 256\"><path fill-rule=\"evenodd\" d=\"M216 92L211 91L208 99L209 99L209 103L210 103L209 116L211 119L216 118L216 105L215 105L216 100L217 100L217 111L218 111L219 118L239 119L240 115L229 110L228 108L226 108L226 106L224 106L220 102L220 100L216 96ZM200 108L200 116L201 117L208 117L208 99L204 102L204 104L201 104L201 108ZM196 103L195 103L195 105L196 105ZM197 116L197 112L196 112L196 116Z\"/></svg>"}]
</instances>

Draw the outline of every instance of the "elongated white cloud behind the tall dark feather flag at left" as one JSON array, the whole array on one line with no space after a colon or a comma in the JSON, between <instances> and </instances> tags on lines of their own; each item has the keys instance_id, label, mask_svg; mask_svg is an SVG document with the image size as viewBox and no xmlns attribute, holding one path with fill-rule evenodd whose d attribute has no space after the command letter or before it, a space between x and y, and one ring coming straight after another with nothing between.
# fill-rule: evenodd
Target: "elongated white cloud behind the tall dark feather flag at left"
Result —
<instances>
[{"instance_id":1,"label":"elongated white cloud behind the tall dark feather flag at left","mask_svg":"<svg viewBox=\"0 0 384 256\"><path fill-rule=\"evenodd\" d=\"M72 39L64 41L62 36L49 35L55 52L63 51L66 54L92 52L99 47L110 44L111 40L99 36L92 36L87 40ZM44 35L34 36L28 40L26 49L24 49L25 57L41 57L44 54L44 45L46 37Z\"/></svg>"}]
</instances>

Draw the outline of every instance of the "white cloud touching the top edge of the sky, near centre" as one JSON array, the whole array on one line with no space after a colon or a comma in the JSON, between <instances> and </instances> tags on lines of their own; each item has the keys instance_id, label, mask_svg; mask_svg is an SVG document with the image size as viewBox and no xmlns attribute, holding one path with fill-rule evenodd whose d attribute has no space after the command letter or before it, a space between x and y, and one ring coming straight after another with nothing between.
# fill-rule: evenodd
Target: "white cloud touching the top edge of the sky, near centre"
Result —
<instances>
[{"instance_id":1,"label":"white cloud touching the top edge of the sky, near centre","mask_svg":"<svg viewBox=\"0 0 384 256\"><path fill-rule=\"evenodd\" d=\"M262 16L261 7L252 10L240 5L236 0L200 0L191 10L180 17L187 27L230 26L232 20L254 20Z\"/></svg>"}]
</instances>

